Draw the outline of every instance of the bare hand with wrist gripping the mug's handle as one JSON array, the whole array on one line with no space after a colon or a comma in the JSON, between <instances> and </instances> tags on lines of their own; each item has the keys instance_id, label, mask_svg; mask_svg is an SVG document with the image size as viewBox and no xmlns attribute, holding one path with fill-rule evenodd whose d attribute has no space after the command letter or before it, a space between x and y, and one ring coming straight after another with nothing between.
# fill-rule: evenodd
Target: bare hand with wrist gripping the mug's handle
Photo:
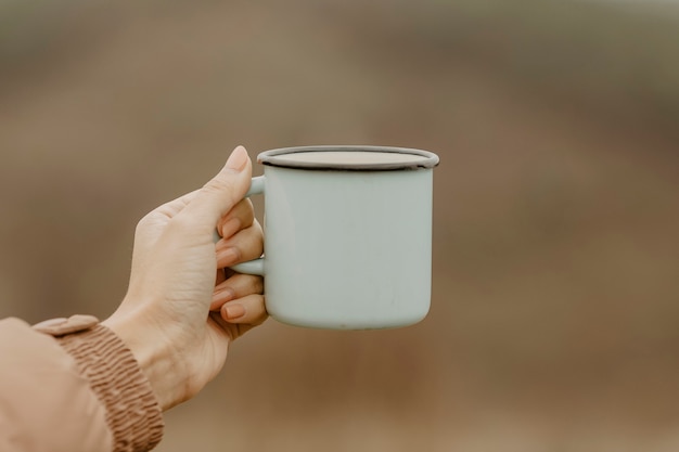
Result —
<instances>
[{"instance_id":1,"label":"bare hand with wrist gripping the mug's handle","mask_svg":"<svg viewBox=\"0 0 679 452\"><path fill-rule=\"evenodd\" d=\"M223 270L262 253L243 199L251 176L239 146L205 186L137 227L128 293L102 323L131 349L163 410L195 396L221 370L229 344L267 318L261 279Z\"/></svg>"}]
</instances>

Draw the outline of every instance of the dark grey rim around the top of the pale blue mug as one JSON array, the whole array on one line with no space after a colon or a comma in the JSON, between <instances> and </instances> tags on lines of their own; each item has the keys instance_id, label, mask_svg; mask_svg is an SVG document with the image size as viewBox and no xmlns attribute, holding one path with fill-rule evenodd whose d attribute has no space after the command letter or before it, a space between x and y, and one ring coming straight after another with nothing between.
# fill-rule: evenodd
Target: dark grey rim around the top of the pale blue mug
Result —
<instances>
[{"instance_id":1,"label":"dark grey rim around the top of the pale blue mug","mask_svg":"<svg viewBox=\"0 0 679 452\"><path fill-rule=\"evenodd\" d=\"M333 162L291 162L281 158L283 155L297 154L304 152L372 152L408 154L421 156L421 159L413 162L380 162L380 163L333 163ZM389 171L400 169L422 169L434 168L438 165L438 155L433 152L397 146L375 146L375 145L313 145L313 146L292 146L269 150L257 156L257 162L261 165L310 169L310 170L338 170L338 171Z\"/></svg>"}]
</instances>

